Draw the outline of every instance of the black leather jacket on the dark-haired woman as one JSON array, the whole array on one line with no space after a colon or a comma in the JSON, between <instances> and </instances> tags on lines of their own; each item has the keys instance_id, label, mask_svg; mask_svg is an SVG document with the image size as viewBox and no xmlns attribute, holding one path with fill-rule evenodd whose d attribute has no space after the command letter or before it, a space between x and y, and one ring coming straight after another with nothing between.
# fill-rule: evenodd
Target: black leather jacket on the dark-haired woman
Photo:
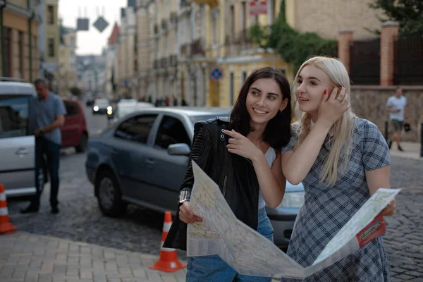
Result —
<instances>
[{"instance_id":1,"label":"black leather jacket on the dark-haired woman","mask_svg":"<svg viewBox=\"0 0 423 282\"><path fill-rule=\"evenodd\" d=\"M254 167L244 157L228 152L228 135L223 134L228 128L228 121L214 118L195 123L190 162L181 191L190 191L194 185L191 160L219 185L235 216L251 228L257 230L259 183ZM187 224L176 213L171 229L164 242L164 247L186 250Z\"/></svg>"}]
</instances>

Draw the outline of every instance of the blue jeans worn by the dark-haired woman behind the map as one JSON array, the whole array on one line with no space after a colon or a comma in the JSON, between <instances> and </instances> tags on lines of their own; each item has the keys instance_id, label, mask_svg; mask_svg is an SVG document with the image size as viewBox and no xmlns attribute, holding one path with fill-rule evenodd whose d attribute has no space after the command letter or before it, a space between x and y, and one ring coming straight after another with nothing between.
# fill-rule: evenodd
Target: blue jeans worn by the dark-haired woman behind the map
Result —
<instances>
[{"instance_id":1,"label":"blue jeans worn by the dark-haired woman behind the map","mask_svg":"<svg viewBox=\"0 0 423 282\"><path fill-rule=\"evenodd\" d=\"M266 210L259 210L259 224L257 231L273 242L273 227L267 217ZM190 257L187 265L187 282L197 281L255 281L269 282L269 277L246 276L238 274L219 255Z\"/></svg>"}]
</instances>

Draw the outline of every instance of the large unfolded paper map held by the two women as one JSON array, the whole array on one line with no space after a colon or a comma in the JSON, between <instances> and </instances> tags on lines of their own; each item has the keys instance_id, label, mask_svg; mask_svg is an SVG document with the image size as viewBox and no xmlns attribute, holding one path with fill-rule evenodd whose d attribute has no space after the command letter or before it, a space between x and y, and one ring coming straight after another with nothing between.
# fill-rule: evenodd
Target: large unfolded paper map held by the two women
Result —
<instances>
[{"instance_id":1,"label":"large unfolded paper map held by the two women","mask_svg":"<svg viewBox=\"0 0 423 282\"><path fill-rule=\"evenodd\" d=\"M400 192L400 189L377 190L332 238L314 263L303 267L239 221L219 186L194 161L192 170L195 183L190 205L203 221L188 224L187 255L219 255L238 273L252 276L302 279L331 266L385 232L384 219L377 215Z\"/></svg>"}]
</instances>

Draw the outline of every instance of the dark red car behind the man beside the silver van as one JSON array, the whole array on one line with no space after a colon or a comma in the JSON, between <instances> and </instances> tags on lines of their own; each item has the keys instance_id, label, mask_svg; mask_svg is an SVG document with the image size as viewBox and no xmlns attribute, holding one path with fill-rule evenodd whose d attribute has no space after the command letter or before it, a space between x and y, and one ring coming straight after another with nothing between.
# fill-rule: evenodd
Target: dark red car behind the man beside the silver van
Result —
<instances>
[{"instance_id":1,"label":"dark red car behind the man beside the silver van","mask_svg":"<svg viewBox=\"0 0 423 282\"><path fill-rule=\"evenodd\" d=\"M85 152L88 142L87 123L82 104L63 98L66 107L65 124L61 128L62 148L75 147L76 152Z\"/></svg>"}]
</instances>

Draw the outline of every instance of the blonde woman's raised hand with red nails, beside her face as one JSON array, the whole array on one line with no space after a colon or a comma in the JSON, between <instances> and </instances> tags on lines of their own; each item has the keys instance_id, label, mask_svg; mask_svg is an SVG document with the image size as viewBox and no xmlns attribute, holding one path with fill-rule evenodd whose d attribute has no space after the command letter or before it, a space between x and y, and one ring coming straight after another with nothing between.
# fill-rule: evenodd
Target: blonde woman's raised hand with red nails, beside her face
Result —
<instances>
[{"instance_id":1,"label":"blonde woman's raised hand with red nails, beside her face","mask_svg":"<svg viewBox=\"0 0 423 282\"><path fill-rule=\"evenodd\" d=\"M345 111L350 109L350 103L348 102L349 95L345 91L345 87L341 87L339 94L338 90L338 87L333 87L329 97L327 97L327 94L324 94L319 106L317 122L324 123L329 128L341 118Z\"/></svg>"}]
</instances>

